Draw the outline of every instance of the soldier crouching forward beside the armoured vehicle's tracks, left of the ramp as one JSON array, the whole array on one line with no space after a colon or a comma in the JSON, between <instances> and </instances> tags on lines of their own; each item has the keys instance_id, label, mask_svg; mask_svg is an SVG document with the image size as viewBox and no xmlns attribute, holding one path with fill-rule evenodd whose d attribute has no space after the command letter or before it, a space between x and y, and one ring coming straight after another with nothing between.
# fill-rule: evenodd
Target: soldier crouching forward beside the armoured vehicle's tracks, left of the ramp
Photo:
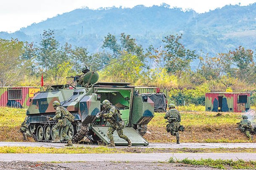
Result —
<instances>
[{"instance_id":1,"label":"soldier crouching forward beside the armoured vehicle's tracks, left of the ramp","mask_svg":"<svg viewBox=\"0 0 256 170\"><path fill-rule=\"evenodd\" d=\"M71 122L74 121L74 116L64 107L61 106L60 102L57 100L53 102L53 108L56 110L55 116L53 118L49 118L50 121L57 121L57 124L53 126L53 132L55 134L55 140L53 143L61 142L59 136L59 129L63 127L61 136L68 141L68 144L65 146L73 146L70 137L67 135L69 127L71 126Z\"/></svg>"}]
</instances>

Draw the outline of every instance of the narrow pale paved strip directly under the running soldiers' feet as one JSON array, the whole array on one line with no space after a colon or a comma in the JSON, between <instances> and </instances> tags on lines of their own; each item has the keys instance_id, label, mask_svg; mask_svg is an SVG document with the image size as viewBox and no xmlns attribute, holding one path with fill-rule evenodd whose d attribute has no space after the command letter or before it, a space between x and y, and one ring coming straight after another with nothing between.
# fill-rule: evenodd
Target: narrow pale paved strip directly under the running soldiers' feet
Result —
<instances>
[{"instance_id":1,"label":"narrow pale paved strip directly under the running soldiers' feet","mask_svg":"<svg viewBox=\"0 0 256 170\"><path fill-rule=\"evenodd\" d=\"M16 146L16 147L56 147L61 148L63 143L50 142L0 142L0 147ZM74 144L76 147L98 147L95 144ZM125 146L117 146L116 148L124 148ZM148 146L132 146L141 148L256 148L256 143L149 143Z\"/></svg>"}]
</instances>

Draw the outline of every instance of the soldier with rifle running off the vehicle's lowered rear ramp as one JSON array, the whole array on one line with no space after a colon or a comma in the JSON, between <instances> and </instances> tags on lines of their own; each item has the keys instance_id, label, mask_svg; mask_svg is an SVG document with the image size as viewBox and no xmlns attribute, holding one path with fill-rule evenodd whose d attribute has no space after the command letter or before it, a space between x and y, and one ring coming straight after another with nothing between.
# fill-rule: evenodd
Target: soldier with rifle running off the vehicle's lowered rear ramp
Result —
<instances>
[{"instance_id":1,"label":"soldier with rifle running off the vehicle's lowered rear ramp","mask_svg":"<svg viewBox=\"0 0 256 170\"><path fill-rule=\"evenodd\" d=\"M113 133L116 130L117 134L120 138L126 140L128 142L128 147L132 146L131 140L124 135L124 132L122 129L124 129L124 121L121 118L120 111L116 106L112 106L108 100L104 100L102 102L103 105L103 111L102 114L97 114L96 117L103 116L103 118L106 119L110 123L110 126L108 128L108 138L110 139L110 144L108 144L108 147L115 147L115 142L113 139Z\"/></svg>"}]
</instances>

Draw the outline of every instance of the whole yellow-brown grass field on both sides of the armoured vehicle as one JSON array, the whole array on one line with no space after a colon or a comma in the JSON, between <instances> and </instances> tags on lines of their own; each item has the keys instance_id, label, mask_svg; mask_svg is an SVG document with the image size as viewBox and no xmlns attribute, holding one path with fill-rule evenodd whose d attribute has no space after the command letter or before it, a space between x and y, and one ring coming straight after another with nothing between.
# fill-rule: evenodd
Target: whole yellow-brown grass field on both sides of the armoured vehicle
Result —
<instances>
[{"instance_id":1,"label":"whole yellow-brown grass field on both sides of the armoured vehicle","mask_svg":"<svg viewBox=\"0 0 256 170\"><path fill-rule=\"evenodd\" d=\"M0 141L21 142L19 132L25 118L25 109L0 107ZM216 116L215 112L181 111L181 124L185 131L180 133L180 142L255 142L249 141L237 129L237 122L241 120L241 113L222 113ZM145 139L148 142L176 142L176 138L165 130L165 113L155 113L155 117L148 124ZM29 138L29 142L34 141Z\"/></svg>"}]
</instances>

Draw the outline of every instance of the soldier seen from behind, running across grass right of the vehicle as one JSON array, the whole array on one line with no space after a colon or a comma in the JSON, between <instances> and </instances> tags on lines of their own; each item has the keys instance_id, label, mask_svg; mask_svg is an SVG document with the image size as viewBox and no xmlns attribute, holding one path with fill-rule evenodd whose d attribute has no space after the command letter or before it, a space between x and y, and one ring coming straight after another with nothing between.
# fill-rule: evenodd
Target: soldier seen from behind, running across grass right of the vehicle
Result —
<instances>
[{"instance_id":1,"label":"soldier seen from behind, running across grass right of the vehicle","mask_svg":"<svg viewBox=\"0 0 256 170\"><path fill-rule=\"evenodd\" d=\"M169 122L169 124L166 125L167 132L170 132L172 136L176 136L177 144L179 144L179 122L181 119L179 111L175 109L174 104L169 104L169 111L166 112L164 118L168 120L166 122Z\"/></svg>"}]
</instances>

